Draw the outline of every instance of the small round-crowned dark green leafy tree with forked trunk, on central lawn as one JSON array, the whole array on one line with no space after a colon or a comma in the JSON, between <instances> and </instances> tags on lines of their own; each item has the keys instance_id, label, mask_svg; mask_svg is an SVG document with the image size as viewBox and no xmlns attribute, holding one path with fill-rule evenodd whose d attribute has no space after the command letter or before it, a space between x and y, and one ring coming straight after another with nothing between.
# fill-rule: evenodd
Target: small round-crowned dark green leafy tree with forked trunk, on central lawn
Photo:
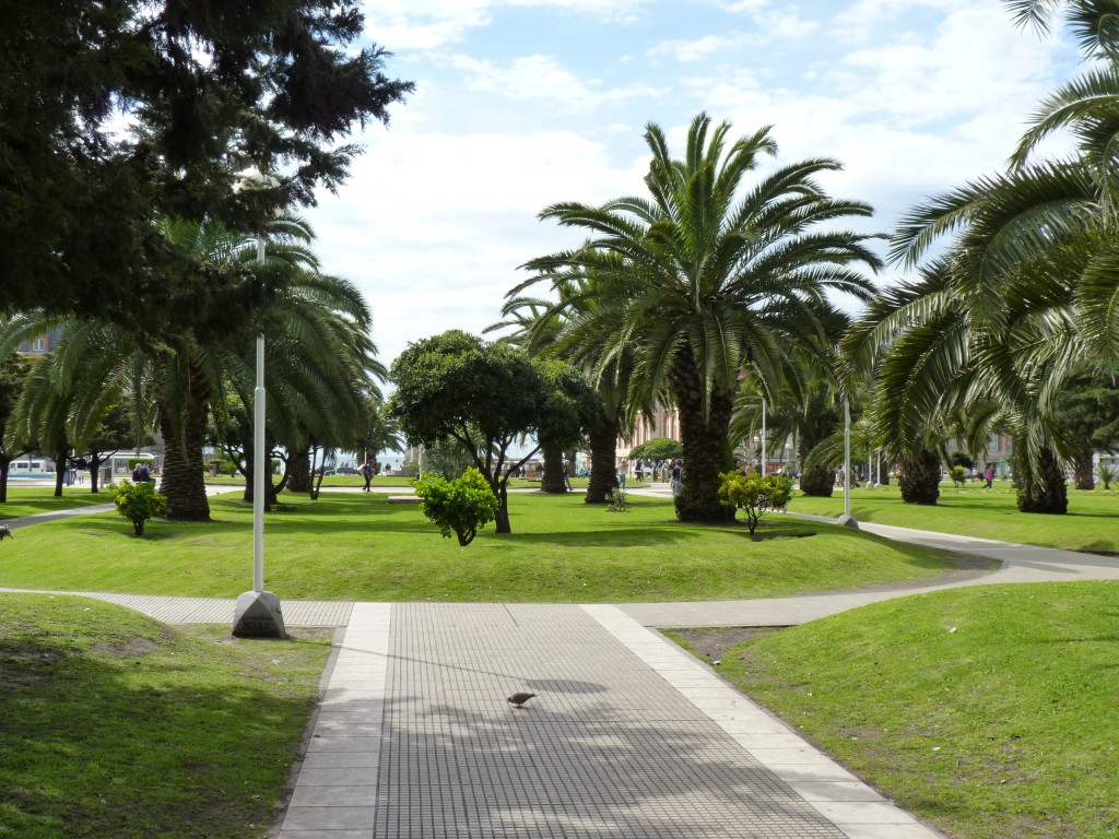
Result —
<instances>
[{"instance_id":1,"label":"small round-crowned dark green leafy tree with forked trunk, on central lawn","mask_svg":"<svg viewBox=\"0 0 1119 839\"><path fill-rule=\"evenodd\" d=\"M547 394L539 370L511 347L449 330L410 343L393 361L391 377L391 409L408 441L459 441L498 499L497 532L511 532L509 477L539 446L516 462L509 450L540 428Z\"/></svg>"}]
</instances>

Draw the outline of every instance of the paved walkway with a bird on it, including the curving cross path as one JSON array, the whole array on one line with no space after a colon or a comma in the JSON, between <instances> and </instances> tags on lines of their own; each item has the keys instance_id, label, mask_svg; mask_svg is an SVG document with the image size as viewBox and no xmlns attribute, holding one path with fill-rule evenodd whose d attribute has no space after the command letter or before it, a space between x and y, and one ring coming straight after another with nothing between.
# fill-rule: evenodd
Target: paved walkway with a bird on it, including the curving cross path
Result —
<instances>
[{"instance_id":1,"label":"paved walkway with a bird on it, including the curving cross path","mask_svg":"<svg viewBox=\"0 0 1119 839\"><path fill-rule=\"evenodd\" d=\"M345 629L272 835L933 839L650 628L790 625L940 587L1119 578L1119 559L863 529L1003 567L949 585L758 601L285 602L289 625ZM232 600L88 596L169 622L233 619ZM538 696L515 710L505 697L518 690Z\"/></svg>"}]
</instances>

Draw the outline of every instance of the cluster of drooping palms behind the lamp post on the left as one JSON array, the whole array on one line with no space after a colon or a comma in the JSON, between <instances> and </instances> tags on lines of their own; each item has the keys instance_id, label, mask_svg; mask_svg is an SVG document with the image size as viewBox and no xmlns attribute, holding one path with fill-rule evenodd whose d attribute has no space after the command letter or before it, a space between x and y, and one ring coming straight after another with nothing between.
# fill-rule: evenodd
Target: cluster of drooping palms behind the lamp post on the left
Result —
<instances>
[{"instance_id":1,"label":"cluster of drooping palms behind the lamp post on the left","mask_svg":"<svg viewBox=\"0 0 1119 839\"><path fill-rule=\"evenodd\" d=\"M204 446L242 452L242 469L252 474L247 417L257 332L267 337L266 450L289 466L267 500L289 482L309 489L308 454L316 447L355 447L378 436L385 369L369 338L370 313L352 283L319 270L305 221L276 217L260 237L234 234L216 219L163 218L158 226L190 271L215 285L251 287L256 299L243 310L251 317L216 324L205 305L148 305L129 322L34 311L10 318L0 351L50 330L58 340L23 388L9 441L57 451L62 463L72 449L85 452L123 408L137 447L153 430L162 437L160 491L171 517L206 520ZM246 488L251 497L252 483Z\"/></svg>"}]
</instances>

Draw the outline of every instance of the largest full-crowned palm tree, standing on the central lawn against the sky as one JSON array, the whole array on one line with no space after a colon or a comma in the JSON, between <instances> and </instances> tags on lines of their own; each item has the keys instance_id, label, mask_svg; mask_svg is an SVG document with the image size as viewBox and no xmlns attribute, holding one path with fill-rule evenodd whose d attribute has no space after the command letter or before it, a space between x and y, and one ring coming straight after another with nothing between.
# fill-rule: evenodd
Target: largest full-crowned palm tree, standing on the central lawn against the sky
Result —
<instances>
[{"instance_id":1,"label":"largest full-crowned palm tree, standing on the central lawn against the sky","mask_svg":"<svg viewBox=\"0 0 1119 839\"><path fill-rule=\"evenodd\" d=\"M837 218L871 215L867 205L830 198L816 182L838 162L782 167L745 189L745 175L777 147L765 128L727 148L730 130L728 123L712 130L699 114L685 158L676 160L650 123L651 198L546 208L542 218L593 237L576 251L529 262L539 275L520 286L565 270L595 272L596 294L611 301L614 314L605 353L634 353L631 404L651 405L668 394L679 411L685 473L677 516L684 520L733 515L718 499L718 473L730 465L727 430L743 366L778 369L792 348L817 351L833 311L826 292L866 300L873 286L853 266L880 266L868 236L821 229Z\"/></svg>"}]
</instances>

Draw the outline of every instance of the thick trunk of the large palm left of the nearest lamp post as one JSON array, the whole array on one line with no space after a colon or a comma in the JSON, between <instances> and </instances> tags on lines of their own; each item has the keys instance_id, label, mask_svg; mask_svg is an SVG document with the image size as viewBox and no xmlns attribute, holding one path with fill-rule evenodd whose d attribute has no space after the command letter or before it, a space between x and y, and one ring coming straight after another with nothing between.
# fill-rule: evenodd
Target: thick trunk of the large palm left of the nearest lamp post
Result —
<instances>
[{"instance_id":1,"label":"thick trunk of the large palm left of the nearest lamp post","mask_svg":"<svg viewBox=\"0 0 1119 839\"><path fill-rule=\"evenodd\" d=\"M157 396L159 430L166 445L159 491L167 498L168 518L209 521L203 445L210 388L200 373L192 370L192 374L186 393L168 394L160 389ZM176 422L177 416L181 422Z\"/></svg>"}]
</instances>

